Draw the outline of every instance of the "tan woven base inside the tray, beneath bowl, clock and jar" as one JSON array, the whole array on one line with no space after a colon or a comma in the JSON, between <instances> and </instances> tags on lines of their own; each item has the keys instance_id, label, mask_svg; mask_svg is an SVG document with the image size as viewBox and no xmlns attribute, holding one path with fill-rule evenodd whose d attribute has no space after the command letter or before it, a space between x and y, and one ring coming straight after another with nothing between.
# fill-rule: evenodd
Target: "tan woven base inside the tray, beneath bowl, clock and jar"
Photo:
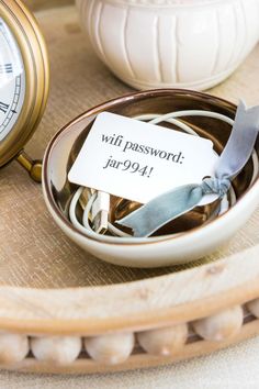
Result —
<instances>
[{"instance_id":1,"label":"tan woven base inside the tray, beneath bowl, clock and jar","mask_svg":"<svg viewBox=\"0 0 259 389\"><path fill-rule=\"evenodd\" d=\"M37 13L50 56L50 96L44 118L25 147L41 158L52 136L87 109L132 89L117 80L98 59L81 34L74 8ZM232 101L243 97L248 104L259 99L257 51L228 81L211 92ZM249 88L250 86L250 88ZM1 170L0 198L0 284L36 288L82 287L133 281L169 274L182 267L130 269L111 266L86 254L54 223L46 210L40 185L12 163ZM255 225L259 213L224 249L196 264L216 260L239 252L259 236Z\"/></svg>"}]
</instances>

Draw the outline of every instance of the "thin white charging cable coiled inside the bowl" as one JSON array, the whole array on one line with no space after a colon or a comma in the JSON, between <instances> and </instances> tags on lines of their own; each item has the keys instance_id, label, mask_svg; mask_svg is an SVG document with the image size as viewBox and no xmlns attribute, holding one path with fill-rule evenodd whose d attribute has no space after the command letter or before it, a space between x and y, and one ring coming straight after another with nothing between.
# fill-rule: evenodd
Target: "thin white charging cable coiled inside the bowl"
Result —
<instances>
[{"instance_id":1,"label":"thin white charging cable coiled inside the bowl","mask_svg":"<svg viewBox=\"0 0 259 389\"><path fill-rule=\"evenodd\" d=\"M138 115L135 116L134 119L136 120L140 120L140 121L148 121L150 124L159 124L161 122L168 122L171 124L177 125L179 129L181 129L182 131L194 135L194 136L199 136L199 134L191 129L188 124L183 123L182 121L178 120L178 118L182 118L182 116L206 116L206 118L213 118L213 119L217 119L221 121L226 122L229 125L234 125L234 120L232 120L228 116L225 116L223 114L216 113L216 112L210 112L210 111L198 111L198 110L189 110L189 111L178 111L178 112L171 112L171 113L167 113L164 115L159 115L159 114L143 114L143 115ZM215 154L217 155L217 153L215 152ZM258 177L258 171L259 171L259 162L258 162L258 156L256 151L254 149L252 152L252 165L254 165L254 171L252 171L252 178L250 181L250 186L255 182L255 180ZM92 205L97 199L97 192L93 192L87 204L86 208L83 210L83 215L82 215L82 224L78 221L77 219L77 214L76 214L76 209L78 205L78 201L83 192L86 188L85 187L79 187L78 190L76 191L76 193L74 194L71 202L70 202L70 207L69 207L69 218L71 223L82 233L87 234L90 237L94 237L98 238L100 241L111 241L114 238L120 238L120 243L133 243L136 242L136 240L138 242L147 242L150 240L159 240L161 238L160 236L156 236L156 237L144 237L144 238L136 238L133 237L132 235L123 232L122 230L115 227L112 223L108 222L108 231L115 236L106 236L106 235L101 235L99 233L97 233L94 230L92 230L91 224L89 223L89 215L91 214L91 210L92 210ZM236 194L234 191L233 186L230 186L229 188L229 199L230 199L230 207L233 207L236 203ZM221 200L221 205L219 209L217 209L211 218L216 218L223 213L225 213L227 210L229 209L229 202L228 202L228 197L227 194L225 194L223 197L223 199ZM173 236L179 235L181 233L178 234L172 234ZM123 242L122 242L123 240Z\"/></svg>"}]
</instances>

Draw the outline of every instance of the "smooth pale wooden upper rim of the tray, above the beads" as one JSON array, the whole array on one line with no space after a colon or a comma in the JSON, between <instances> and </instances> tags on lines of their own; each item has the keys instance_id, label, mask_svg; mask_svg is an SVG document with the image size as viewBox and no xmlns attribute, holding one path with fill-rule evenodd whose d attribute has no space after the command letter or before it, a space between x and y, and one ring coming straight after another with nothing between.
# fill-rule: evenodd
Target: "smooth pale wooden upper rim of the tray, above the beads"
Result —
<instances>
[{"instance_id":1,"label":"smooth pale wooden upper rim of the tray, above the beads","mask_svg":"<svg viewBox=\"0 0 259 389\"><path fill-rule=\"evenodd\" d=\"M193 321L257 297L255 246L216 263L134 282L68 289L0 287L0 329L92 336Z\"/></svg>"}]
</instances>

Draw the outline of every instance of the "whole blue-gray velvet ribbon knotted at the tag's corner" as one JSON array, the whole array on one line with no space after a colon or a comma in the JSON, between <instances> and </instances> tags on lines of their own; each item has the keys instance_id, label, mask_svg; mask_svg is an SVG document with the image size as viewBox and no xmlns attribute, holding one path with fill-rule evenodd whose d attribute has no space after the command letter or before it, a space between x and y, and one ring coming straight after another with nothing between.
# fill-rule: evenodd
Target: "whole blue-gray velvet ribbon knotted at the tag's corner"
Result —
<instances>
[{"instance_id":1,"label":"whole blue-gray velvet ribbon knotted at the tag's corner","mask_svg":"<svg viewBox=\"0 0 259 389\"><path fill-rule=\"evenodd\" d=\"M215 177L162 193L117 223L132 229L134 236L145 237L169 221L191 211L205 194L216 193L222 198L228 191L232 179L250 158L258 131L259 107L247 109L241 101L236 112L232 134L218 159Z\"/></svg>"}]
</instances>

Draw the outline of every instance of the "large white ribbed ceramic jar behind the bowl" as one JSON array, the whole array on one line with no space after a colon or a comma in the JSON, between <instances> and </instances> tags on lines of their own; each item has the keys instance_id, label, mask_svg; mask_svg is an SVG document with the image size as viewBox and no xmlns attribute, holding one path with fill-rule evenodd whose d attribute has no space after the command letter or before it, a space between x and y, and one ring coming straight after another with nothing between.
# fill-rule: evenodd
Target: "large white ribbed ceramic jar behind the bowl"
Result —
<instances>
[{"instance_id":1,"label":"large white ribbed ceramic jar behind the bowl","mask_svg":"<svg viewBox=\"0 0 259 389\"><path fill-rule=\"evenodd\" d=\"M76 0L99 57L137 88L207 89L259 37L259 0Z\"/></svg>"}]
</instances>

